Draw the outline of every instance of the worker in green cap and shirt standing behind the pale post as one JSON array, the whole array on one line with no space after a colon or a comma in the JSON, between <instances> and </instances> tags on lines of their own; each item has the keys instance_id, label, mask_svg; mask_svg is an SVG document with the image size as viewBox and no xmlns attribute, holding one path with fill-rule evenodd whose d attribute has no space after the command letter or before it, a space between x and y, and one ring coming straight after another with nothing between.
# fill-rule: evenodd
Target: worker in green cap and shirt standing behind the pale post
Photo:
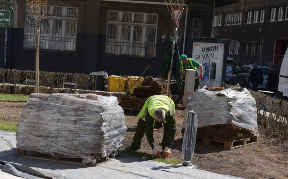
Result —
<instances>
[{"instance_id":1,"label":"worker in green cap and shirt standing behind the pale post","mask_svg":"<svg viewBox=\"0 0 288 179\"><path fill-rule=\"evenodd\" d=\"M186 69L196 70L196 77L198 77L199 79L203 78L203 67L196 60L194 60L193 58L187 58L187 55L183 54L180 57L180 61L181 61L181 72L182 72L182 79L183 80L185 80L185 70ZM200 70L199 76L198 76L198 72L197 72L198 68ZM196 89L198 89L199 79L195 79L194 91L196 91ZM184 86L185 86L185 81L182 82L182 86L180 87L181 89L179 90L178 98L177 98L175 104L179 104L179 102L181 101L181 99L184 95Z\"/></svg>"}]
</instances>

